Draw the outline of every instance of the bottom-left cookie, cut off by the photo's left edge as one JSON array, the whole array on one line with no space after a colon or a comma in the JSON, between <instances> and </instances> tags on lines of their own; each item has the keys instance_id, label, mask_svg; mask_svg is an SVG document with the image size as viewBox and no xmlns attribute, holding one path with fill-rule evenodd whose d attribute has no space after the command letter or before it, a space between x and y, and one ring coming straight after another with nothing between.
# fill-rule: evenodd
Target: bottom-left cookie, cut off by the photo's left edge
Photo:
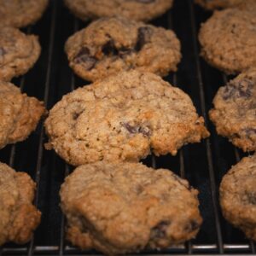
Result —
<instances>
[{"instance_id":1,"label":"bottom-left cookie, cut off by the photo's left edge","mask_svg":"<svg viewBox=\"0 0 256 256\"><path fill-rule=\"evenodd\" d=\"M0 163L0 246L31 239L41 218L41 212L32 205L35 188L26 172L15 172Z\"/></svg>"}]
</instances>

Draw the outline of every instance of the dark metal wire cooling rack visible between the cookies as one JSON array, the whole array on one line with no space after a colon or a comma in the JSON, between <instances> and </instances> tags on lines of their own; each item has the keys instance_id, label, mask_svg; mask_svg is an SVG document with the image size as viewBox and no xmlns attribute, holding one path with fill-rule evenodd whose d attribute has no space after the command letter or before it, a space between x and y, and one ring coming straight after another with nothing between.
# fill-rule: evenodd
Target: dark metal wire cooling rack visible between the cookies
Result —
<instances>
[{"instance_id":1,"label":"dark metal wire cooling rack visible between the cookies","mask_svg":"<svg viewBox=\"0 0 256 256\"><path fill-rule=\"evenodd\" d=\"M187 0L188 6L189 6L189 16L191 20L192 25L192 44L193 44L193 51L195 55L195 67L196 67L196 75L198 79L198 85L199 85L199 93L200 93L200 100L201 100L201 112L204 118L206 119L207 124L207 110L206 110L206 103L205 103L205 91L204 91L204 84L202 79L202 71L201 71L201 62L198 55L198 45L197 45L197 31L195 26L195 11L193 4L190 0ZM44 87L44 103L47 106L48 98L49 98L49 84L50 84L50 76L51 76L51 67L52 67L52 56L53 56L53 49L55 44L55 21L56 21L56 1L52 1L51 5L51 15L50 15L50 28L49 28L49 48L48 48L48 59L47 59L47 71L45 74L45 87ZM167 15L167 26L168 28L172 28L172 12L169 12ZM79 21L74 18L73 21L73 32L77 32L79 30ZM72 71L71 71L72 73ZM174 74L172 77L172 84L177 84L177 74ZM23 86L25 84L25 77L23 77L20 80L20 89L23 89ZM224 76L224 83L226 83L227 77ZM75 77L72 73L71 75L71 85L70 90L75 89ZM39 133L39 144L38 144L38 159L37 159L37 167L36 167L36 174L35 174L35 180L38 183L38 189L35 196L35 205L38 206L38 200L39 200L39 188L40 188L40 172L42 168L42 159L44 154L44 148L43 148L43 141L44 141L44 129L41 126L40 127L40 133ZM224 252L229 252L229 255L232 255L230 253L242 253L244 252L250 252L255 253L255 247L253 241L249 241L247 244L233 244L233 243L224 243L223 237L222 237L222 231L221 231L221 224L219 220L219 208L218 208L218 199L217 199L217 185L215 183L215 177L214 177L214 167L212 164L212 148L210 145L209 139L206 140L206 150L207 150L207 167L210 177L210 189L211 189L211 202L213 206L213 212L214 212L214 225L217 233L216 237L216 243L213 244L193 244L191 241L187 242L185 245L179 245L179 246L173 246L166 248L159 252L155 251L145 251L143 252L143 255L167 255L173 253L178 253L179 255L188 255L188 254L194 254L194 255L203 255L211 253L211 255L219 255L224 254ZM240 154L238 150L235 148L235 155L236 160L240 160ZM185 170L185 158L184 158L184 151L183 149L179 150L178 153L178 160L179 160L179 174L181 177L186 177L186 170ZM151 157L151 166L156 168L156 157L152 155ZM9 165L13 166L15 162L15 146L13 146L10 150L10 156L9 156ZM65 166L65 177L70 173L70 166ZM38 246L35 244L34 238L32 238L32 241L29 243L28 247L3 247L0 248L0 256L1 255L35 255L35 254L48 254L48 255L82 255L91 252L82 252L76 247L70 247L65 244L65 217L63 214L61 214L61 234L60 234L60 241L57 246ZM217 254L214 254L218 252ZM196 254L198 253L198 254ZM93 255L100 255L94 253ZM228 255L228 254L227 254ZM237 254L236 254L237 255ZM245 254L246 255L246 254Z\"/></svg>"}]
</instances>

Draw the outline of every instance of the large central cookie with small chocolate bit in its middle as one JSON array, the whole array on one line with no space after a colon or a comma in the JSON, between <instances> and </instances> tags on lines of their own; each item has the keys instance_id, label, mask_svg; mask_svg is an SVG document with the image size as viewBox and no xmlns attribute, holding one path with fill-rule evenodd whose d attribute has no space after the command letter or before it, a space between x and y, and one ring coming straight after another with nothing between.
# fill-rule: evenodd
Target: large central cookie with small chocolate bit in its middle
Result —
<instances>
[{"instance_id":1,"label":"large central cookie with small chocolate bit in its middle","mask_svg":"<svg viewBox=\"0 0 256 256\"><path fill-rule=\"evenodd\" d=\"M183 90L153 73L119 73L63 96L45 121L49 143L73 166L177 154L209 136Z\"/></svg>"}]
</instances>

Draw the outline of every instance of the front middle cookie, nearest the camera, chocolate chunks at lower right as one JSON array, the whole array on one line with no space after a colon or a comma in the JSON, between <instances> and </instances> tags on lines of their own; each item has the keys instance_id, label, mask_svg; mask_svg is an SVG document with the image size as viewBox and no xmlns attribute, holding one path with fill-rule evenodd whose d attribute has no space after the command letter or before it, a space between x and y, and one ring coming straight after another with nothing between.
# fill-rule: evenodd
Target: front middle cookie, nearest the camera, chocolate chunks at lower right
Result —
<instances>
[{"instance_id":1,"label":"front middle cookie, nearest the camera, chocolate chunks at lower right","mask_svg":"<svg viewBox=\"0 0 256 256\"><path fill-rule=\"evenodd\" d=\"M197 194L166 169L139 163L79 166L61 186L67 239L109 254L187 241L201 226Z\"/></svg>"}]
</instances>

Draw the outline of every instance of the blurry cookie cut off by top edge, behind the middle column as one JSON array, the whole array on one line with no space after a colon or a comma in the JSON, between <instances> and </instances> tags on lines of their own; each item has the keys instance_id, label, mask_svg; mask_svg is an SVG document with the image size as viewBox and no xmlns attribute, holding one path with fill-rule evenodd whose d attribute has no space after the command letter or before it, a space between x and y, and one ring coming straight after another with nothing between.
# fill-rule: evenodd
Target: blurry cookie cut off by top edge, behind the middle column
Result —
<instances>
[{"instance_id":1,"label":"blurry cookie cut off by top edge, behind the middle column","mask_svg":"<svg viewBox=\"0 0 256 256\"><path fill-rule=\"evenodd\" d=\"M173 0L65 0L81 20L121 15L129 20L153 20L172 8Z\"/></svg>"}]
</instances>

